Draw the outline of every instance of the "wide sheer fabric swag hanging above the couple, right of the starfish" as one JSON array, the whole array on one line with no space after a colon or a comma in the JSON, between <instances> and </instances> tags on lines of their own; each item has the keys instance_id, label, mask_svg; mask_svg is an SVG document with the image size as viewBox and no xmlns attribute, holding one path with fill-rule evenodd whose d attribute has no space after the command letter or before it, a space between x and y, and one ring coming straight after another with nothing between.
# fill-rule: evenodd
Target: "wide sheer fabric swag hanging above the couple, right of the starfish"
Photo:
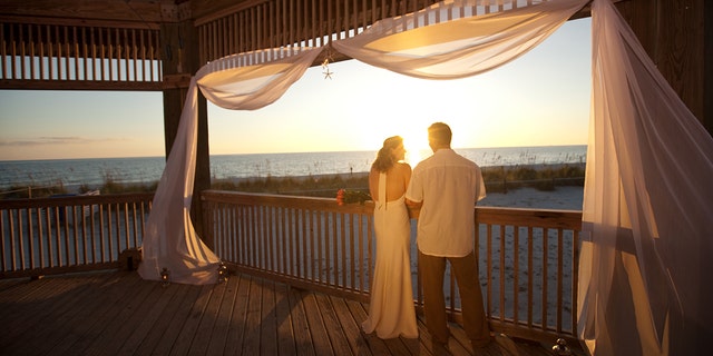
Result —
<instances>
[{"instance_id":1,"label":"wide sheer fabric swag hanging above the couple, right of the starfish","mask_svg":"<svg viewBox=\"0 0 713 356\"><path fill-rule=\"evenodd\" d=\"M371 66L416 78L471 77L525 55L587 1L531 1L536 4L478 14L486 8L473 4L484 2L488 1L440 2L379 21L332 47Z\"/></svg>"}]
</instances>

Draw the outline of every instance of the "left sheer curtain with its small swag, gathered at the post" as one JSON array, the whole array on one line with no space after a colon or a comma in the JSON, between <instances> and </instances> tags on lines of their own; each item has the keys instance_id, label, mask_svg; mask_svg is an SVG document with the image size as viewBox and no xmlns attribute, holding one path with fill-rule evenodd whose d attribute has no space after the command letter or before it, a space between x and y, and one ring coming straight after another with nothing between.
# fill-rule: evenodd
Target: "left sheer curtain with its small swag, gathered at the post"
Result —
<instances>
[{"instance_id":1,"label":"left sheer curtain with its small swag, gathered at the post","mask_svg":"<svg viewBox=\"0 0 713 356\"><path fill-rule=\"evenodd\" d=\"M321 49L290 48L229 56L204 66L191 80L178 132L146 222L138 273L144 279L216 283L219 258L191 220L195 178L198 88L223 108L253 110L277 100L314 62Z\"/></svg>"}]
</instances>

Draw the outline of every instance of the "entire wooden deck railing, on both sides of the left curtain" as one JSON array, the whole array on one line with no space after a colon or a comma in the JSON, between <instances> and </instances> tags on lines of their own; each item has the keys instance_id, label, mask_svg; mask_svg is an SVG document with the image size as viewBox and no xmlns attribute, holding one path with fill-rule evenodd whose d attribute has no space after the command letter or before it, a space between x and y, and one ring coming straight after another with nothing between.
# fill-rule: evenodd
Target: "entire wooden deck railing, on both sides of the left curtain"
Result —
<instances>
[{"instance_id":1,"label":"entire wooden deck railing, on both sides of the left curtain","mask_svg":"<svg viewBox=\"0 0 713 356\"><path fill-rule=\"evenodd\" d=\"M0 278L119 268L139 247L150 194L0 200ZM373 205L207 190L206 243L234 270L360 301L369 300L375 244ZM477 207L473 236L494 330L534 340L575 342L582 212ZM411 220L416 237L417 220ZM421 286L412 271L417 308ZM447 303L460 298L447 278Z\"/></svg>"}]
</instances>

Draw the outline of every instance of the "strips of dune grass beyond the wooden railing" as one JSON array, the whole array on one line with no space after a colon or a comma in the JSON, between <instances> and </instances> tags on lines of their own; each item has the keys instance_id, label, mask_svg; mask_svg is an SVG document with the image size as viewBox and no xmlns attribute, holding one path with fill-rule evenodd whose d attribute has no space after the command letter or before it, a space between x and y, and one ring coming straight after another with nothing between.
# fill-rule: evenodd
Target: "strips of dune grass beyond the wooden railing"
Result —
<instances>
[{"instance_id":1,"label":"strips of dune grass beyond the wooden railing","mask_svg":"<svg viewBox=\"0 0 713 356\"><path fill-rule=\"evenodd\" d=\"M500 166L484 167L482 176L490 192L507 192L508 189L534 187L539 190L554 190L556 186L584 186L584 165L549 166ZM99 187L81 185L79 194L98 189L101 194L152 192L158 181L149 184L123 184L110 175L105 175ZM334 198L339 189L369 191L367 172L321 175L306 177L272 177L243 179L214 179L211 189L265 192L277 195ZM50 187L13 186L0 191L2 199L41 198L68 194L68 189L58 181Z\"/></svg>"}]
</instances>

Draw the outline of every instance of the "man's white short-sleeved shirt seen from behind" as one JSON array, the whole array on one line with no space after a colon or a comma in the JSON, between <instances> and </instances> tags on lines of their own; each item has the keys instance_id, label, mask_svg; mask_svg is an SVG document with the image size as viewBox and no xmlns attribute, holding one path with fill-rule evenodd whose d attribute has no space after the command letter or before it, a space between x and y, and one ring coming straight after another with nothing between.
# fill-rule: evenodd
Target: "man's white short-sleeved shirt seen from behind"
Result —
<instances>
[{"instance_id":1,"label":"man's white short-sleeved shirt seen from behind","mask_svg":"<svg viewBox=\"0 0 713 356\"><path fill-rule=\"evenodd\" d=\"M480 167L452 149L439 149L416 166L406 198L423 202L418 221L419 250L441 257L470 254L473 209L485 197Z\"/></svg>"}]
</instances>

